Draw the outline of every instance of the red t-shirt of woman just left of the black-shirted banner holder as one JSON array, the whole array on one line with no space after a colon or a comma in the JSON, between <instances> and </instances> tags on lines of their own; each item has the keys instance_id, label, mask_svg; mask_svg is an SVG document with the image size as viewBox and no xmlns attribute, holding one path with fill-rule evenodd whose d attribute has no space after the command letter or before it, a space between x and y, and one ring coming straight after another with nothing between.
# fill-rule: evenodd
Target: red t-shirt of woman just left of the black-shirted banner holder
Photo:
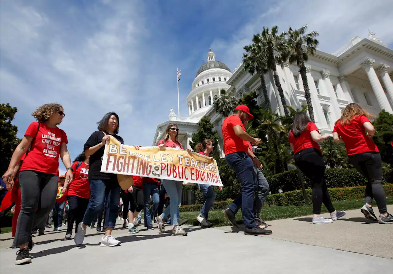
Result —
<instances>
[{"instance_id":1,"label":"red t-shirt of woman just left of the black-shirted banner holder","mask_svg":"<svg viewBox=\"0 0 393 274\"><path fill-rule=\"evenodd\" d=\"M79 162L72 164L72 170L74 179L68 185L68 194L75 195L84 199L90 199L90 184L89 184L89 167L86 163L82 162L81 165L76 168Z\"/></svg>"}]
</instances>

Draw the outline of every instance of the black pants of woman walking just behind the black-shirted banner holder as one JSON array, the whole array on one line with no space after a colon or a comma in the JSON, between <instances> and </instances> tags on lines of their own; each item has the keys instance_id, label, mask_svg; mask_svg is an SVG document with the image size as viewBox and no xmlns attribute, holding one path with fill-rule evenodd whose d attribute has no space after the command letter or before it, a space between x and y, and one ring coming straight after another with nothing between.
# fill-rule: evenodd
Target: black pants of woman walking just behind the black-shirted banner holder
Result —
<instances>
[{"instance_id":1,"label":"black pants of woman walking just behind the black-shirted banner holder","mask_svg":"<svg viewBox=\"0 0 393 274\"><path fill-rule=\"evenodd\" d=\"M67 216L67 233L72 234L73 224L75 222L75 234L78 232L78 225L82 222L84 212L87 209L87 205L89 204L89 199L82 198L76 195L68 195L67 196L68 205L70 206L70 210L68 210ZM102 214L101 214L102 215Z\"/></svg>"}]
</instances>

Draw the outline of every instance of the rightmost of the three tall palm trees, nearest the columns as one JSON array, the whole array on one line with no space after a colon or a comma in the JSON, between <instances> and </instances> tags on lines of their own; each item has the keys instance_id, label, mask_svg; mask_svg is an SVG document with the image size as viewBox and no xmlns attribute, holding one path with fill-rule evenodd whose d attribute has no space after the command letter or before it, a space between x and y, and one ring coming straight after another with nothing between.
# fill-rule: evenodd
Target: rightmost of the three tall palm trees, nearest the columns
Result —
<instances>
[{"instance_id":1,"label":"rightmost of the three tall palm trees, nearest the columns","mask_svg":"<svg viewBox=\"0 0 393 274\"><path fill-rule=\"evenodd\" d=\"M319 42L315 38L319 34L316 31L312 31L306 34L307 27L309 25L302 26L300 29L293 30L289 26L288 33L286 33L286 45L290 52L288 60L290 64L297 64L301 79L303 80L304 97L306 98L307 104L309 105L309 115L312 121L314 120L314 111L311 104L311 95L309 89L309 83L307 82L306 76L306 65L305 62L309 60L309 55L314 55L316 47Z\"/></svg>"}]
</instances>

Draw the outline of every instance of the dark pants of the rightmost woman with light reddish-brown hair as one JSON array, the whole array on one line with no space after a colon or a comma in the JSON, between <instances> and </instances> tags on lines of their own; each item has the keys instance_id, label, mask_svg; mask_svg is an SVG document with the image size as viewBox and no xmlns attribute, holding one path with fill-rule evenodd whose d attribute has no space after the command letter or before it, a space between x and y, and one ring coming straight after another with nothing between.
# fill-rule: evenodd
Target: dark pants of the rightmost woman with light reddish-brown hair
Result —
<instances>
[{"instance_id":1,"label":"dark pants of the rightmost woman with light reddish-brown hair","mask_svg":"<svg viewBox=\"0 0 393 274\"><path fill-rule=\"evenodd\" d=\"M382 187L382 160L379 152L349 155L349 162L367 179L365 203L372 205L375 198L380 214L385 214L386 195Z\"/></svg>"}]
</instances>

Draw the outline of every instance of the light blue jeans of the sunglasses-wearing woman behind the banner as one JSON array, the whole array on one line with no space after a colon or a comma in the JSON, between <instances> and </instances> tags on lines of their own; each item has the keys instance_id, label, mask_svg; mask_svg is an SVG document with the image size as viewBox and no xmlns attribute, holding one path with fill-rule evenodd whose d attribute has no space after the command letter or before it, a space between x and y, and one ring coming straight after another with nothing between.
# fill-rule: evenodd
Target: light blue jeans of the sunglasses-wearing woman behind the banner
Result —
<instances>
[{"instance_id":1,"label":"light blue jeans of the sunglasses-wearing woman behind the banner","mask_svg":"<svg viewBox=\"0 0 393 274\"><path fill-rule=\"evenodd\" d=\"M161 183L165 187L165 190L171 199L171 204L165 208L164 212L161 214L161 217L166 219L169 214L171 214L172 225L178 225L177 218L174 216L177 216L179 212L179 204L182 201L183 183L167 179L162 179Z\"/></svg>"}]
</instances>

